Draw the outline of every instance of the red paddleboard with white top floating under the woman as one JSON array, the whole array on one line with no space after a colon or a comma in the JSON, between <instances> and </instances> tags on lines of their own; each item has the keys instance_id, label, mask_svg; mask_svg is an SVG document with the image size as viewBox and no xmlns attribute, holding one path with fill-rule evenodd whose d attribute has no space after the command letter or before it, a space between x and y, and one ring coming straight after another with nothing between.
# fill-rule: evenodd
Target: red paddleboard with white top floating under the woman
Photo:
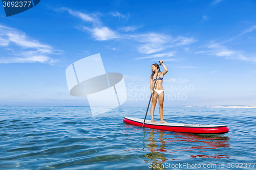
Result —
<instances>
[{"instance_id":1,"label":"red paddleboard with white top floating under the woman","mask_svg":"<svg viewBox=\"0 0 256 170\"><path fill-rule=\"evenodd\" d=\"M131 125L141 126L144 119L123 117L123 122ZM227 133L228 127L226 125L209 125L209 124L177 124L177 123L157 123L152 124L151 120L145 120L145 128L161 129L173 132L186 132L186 133L202 133L202 134L221 134Z\"/></svg>"}]
</instances>

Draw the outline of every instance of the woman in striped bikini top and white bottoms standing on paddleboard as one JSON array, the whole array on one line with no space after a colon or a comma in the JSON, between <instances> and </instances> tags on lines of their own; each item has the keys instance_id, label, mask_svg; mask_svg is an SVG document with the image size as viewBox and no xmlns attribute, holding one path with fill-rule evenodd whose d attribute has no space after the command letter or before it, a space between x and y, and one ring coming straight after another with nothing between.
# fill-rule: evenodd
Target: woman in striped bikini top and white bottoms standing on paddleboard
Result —
<instances>
[{"instance_id":1,"label":"woman in striped bikini top and white bottoms standing on paddleboard","mask_svg":"<svg viewBox=\"0 0 256 170\"><path fill-rule=\"evenodd\" d=\"M167 67L163 64L163 61L160 60L159 63L162 64L164 71L160 71L158 72L158 76L157 76L157 71L159 68L158 64L153 64L152 65L152 75L150 77L150 89L151 89L151 93L152 94L152 105L151 105L151 123L152 124L157 124L154 120L154 111L155 111L155 107L157 104L157 98L158 98L158 104L159 104L159 113L160 113L160 123L167 123L163 120L163 99L164 99L164 91L163 91L163 76L166 74L166 72L168 71ZM156 78L157 76L157 78ZM154 87L154 90L152 90L153 88L153 82L155 83L156 81L156 85Z\"/></svg>"}]
</instances>

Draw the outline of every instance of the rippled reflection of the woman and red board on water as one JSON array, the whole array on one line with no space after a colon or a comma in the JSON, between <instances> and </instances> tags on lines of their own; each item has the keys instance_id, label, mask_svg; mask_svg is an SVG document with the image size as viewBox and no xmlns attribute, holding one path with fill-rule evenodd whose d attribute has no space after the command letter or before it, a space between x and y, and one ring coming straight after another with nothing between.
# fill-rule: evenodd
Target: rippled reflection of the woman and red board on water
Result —
<instances>
[{"instance_id":1,"label":"rippled reflection of the woman and red board on water","mask_svg":"<svg viewBox=\"0 0 256 170\"><path fill-rule=\"evenodd\" d=\"M152 169L165 169L166 166L164 166L164 162L182 159L182 157L175 157L177 155L177 152L182 151L188 152L187 156L185 157L190 158L229 158L228 155L217 154L191 155L191 153L194 152L205 152L209 154L208 150L229 148L229 137L226 137L224 135L197 135L189 133L167 132L154 129L151 129L149 133L148 130L145 130L144 132L144 138L146 139L144 146L147 148L147 150L144 150L150 151L150 153L143 155L144 157L149 159L146 159L144 161L150 163L149 167L151 167ZM177 142L179 142L179 144L176 144ZM180 143L185 144L187 147L175 148L175 145L180 146ZM166 158L170 155L174 158Z\"/></svg>"}]
</instances>

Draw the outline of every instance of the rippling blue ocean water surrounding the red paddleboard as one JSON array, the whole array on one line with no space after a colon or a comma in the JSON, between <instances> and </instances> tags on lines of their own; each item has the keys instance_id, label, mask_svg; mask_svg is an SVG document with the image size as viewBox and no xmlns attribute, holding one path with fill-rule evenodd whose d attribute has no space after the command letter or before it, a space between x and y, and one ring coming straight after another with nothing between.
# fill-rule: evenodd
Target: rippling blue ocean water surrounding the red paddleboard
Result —
<instances>
[{"instance_id":1,"label":"rippling blue ocean water surrounding the red paddleboard","mask_svg":"<svg viewBox=\"0 0 256 170\"><path fill-rule=\"evenodd\" d=\"M0 169L256 169L255 108L164 108L168 122L227 125L220 135L123 123L123 116L145 112L118 107L92 116L89 107L1 106Z\"/></svg>"}]
</instances>

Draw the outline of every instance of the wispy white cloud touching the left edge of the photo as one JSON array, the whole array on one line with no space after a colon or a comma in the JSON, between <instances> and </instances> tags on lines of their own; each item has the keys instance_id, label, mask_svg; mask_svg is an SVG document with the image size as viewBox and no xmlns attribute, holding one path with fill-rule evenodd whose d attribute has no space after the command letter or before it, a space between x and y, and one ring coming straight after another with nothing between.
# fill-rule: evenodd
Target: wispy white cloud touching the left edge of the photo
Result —
<instances>
[{"instance_id":1,"label":"wispy white cloud touching the left edge of the photo","mask_svg":"<svg viewBox=\"0 0 256 170\"><path fill-rule=\"evenodd\" d=\"M54 63L54 60L47 54L60 54L62 51L53 50L48 44L42 44L39 41L28 37L25 33L0 25L0 47L9 57L0 58L0 63ZM21 56L21 57L13 57Z\"/></svg>"}]
</instances>

